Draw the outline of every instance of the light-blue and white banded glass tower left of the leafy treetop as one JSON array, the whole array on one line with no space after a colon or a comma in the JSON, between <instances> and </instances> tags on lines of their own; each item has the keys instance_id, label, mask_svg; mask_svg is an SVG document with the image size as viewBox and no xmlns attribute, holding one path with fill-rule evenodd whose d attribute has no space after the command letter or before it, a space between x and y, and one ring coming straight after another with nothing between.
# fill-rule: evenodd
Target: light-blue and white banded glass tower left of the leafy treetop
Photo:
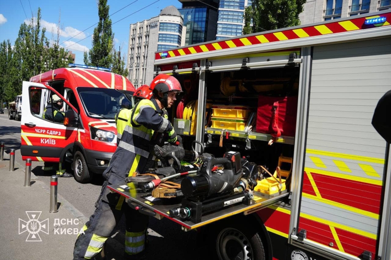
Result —
<instances>
[{"instance_id":1,"label":"light-blue and white banded glass tower left of the leafy treetop","mask_svg":"<svg viewBox=\"0 0 391 260\"><path fill-rule=\"evenodd\" d=\"M242 35L244 9L251 4L252 0L220 0L216 40Z\"/></svg>"}]
</instances>

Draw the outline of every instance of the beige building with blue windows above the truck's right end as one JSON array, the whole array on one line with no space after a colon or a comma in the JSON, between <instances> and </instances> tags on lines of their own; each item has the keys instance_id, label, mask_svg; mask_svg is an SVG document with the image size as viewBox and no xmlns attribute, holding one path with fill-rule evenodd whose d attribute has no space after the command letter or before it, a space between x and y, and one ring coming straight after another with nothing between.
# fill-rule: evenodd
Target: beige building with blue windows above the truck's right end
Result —
<instances>
[{"instance_id":1,"label":"beige building with blue windows above the truck's right end","mask_svg":"<svg viewBox=\"0 0 391 260\"><path fill-rule=\"evenodd\" d=\"M302 24L373 13L391 8L391 0L307 0Z\"/></svg>"}]
</instances>

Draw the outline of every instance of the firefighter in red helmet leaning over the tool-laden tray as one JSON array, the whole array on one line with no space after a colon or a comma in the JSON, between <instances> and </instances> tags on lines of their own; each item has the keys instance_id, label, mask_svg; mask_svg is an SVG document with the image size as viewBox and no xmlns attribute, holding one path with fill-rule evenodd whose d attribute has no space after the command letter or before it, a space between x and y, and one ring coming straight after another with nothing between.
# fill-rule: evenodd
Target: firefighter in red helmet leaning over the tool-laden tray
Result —
<instances>
[{"instance_id":1,"label":"firefighter in red helmet leaning over the tool-laden tray","mask_svg":"<svg viewBox=\"0 0 391 260\"><path fill-rule=\"evenodd\" d=\"M109 167L103 173L105 182L96 203L96 210L83 227L73 251L74 259L90 259L97 255L109 238L112 230L126 216L125 257L140 259L145 248L148 216L133 210L124 202L123 196L110 193L108 184L124 183L128 176L143 174L154 163L153 133L167 133L168 142L177 140L171 122L164 118L163 108L170 108L176 100L176 93L182 88L173 76L158 75L152 80L151 100L140 100L131 110L130 119L124 129L119 145L114 152Z\"/></svg>"}]
</instances>

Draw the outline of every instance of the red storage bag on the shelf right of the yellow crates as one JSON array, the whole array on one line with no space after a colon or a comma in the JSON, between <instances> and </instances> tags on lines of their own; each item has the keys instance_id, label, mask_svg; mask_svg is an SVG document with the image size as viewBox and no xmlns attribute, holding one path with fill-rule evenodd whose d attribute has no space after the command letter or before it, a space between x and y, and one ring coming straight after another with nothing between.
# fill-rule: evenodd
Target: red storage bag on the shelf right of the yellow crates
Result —
<instances>
[{"instance_id":1,"label":"red storage bag on the shelf right of the yellow crates","mask_svg":"<svg viewBox=\"0 0 391 260\"><path fill-rule=\"evenodd\" d=\"M295 136L297 100L298 96L259 96L256 131L272 137Z\"/></svg>"}]
</instances>

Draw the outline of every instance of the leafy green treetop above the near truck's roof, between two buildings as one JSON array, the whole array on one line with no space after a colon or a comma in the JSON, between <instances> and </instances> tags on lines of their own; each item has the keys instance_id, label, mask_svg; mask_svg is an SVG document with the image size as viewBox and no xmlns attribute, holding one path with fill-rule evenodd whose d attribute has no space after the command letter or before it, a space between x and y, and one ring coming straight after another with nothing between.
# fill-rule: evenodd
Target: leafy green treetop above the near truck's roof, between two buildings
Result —
<instances>
[{"instance_id":1,"label":"leafy green treetop above the near truck's roof, between two buildings","mask_svg":"<svg viewBox=\"0 0 391 260\"><path fill-rule=\"evenodd\" d=\"M299 25L299 14L303 12L305 1L253 0L244 11L243 34Z\"/></svg>"}]
</instances>

